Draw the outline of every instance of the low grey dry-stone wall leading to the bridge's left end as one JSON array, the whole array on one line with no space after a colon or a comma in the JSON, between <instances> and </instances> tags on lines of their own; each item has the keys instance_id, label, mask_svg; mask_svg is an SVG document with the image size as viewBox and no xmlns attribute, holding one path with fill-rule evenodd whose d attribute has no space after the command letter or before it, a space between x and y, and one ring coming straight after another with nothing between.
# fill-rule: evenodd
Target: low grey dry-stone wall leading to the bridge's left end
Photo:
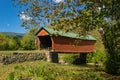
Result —
<instances>
[{"instance_id":1,"label":"low grey dry-stone wall leading to the bridge's left end","mask_svg":"<svg viewBox=\"0 0 120 80\"><path fill-rule=\"evenodd\" d=\"M13 52L10 55L0 55L0 64L6 65L11 63L20 63L25 61L46 60L45 53L19 53Z\"/></svg>"}]
</instances>

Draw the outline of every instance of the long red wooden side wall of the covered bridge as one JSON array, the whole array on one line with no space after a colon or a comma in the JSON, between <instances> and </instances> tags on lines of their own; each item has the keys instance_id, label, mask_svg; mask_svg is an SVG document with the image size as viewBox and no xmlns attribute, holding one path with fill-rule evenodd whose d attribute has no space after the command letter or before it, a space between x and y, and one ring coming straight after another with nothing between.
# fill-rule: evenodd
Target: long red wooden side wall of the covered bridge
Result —
<instances>
[{"instance_id":1,"label":"long red wooden side wall of the covered bridge","mask_svg":"<svg viewBox=\"0 0 120 80\"><path fill-rule=\"evenodd\" d=\"M95 41L77 40L66 37L52 37L52 49L54 52L88 53L94 51ZM76 44L76 45L75 45Z\"/></svg>"}]
</instances>

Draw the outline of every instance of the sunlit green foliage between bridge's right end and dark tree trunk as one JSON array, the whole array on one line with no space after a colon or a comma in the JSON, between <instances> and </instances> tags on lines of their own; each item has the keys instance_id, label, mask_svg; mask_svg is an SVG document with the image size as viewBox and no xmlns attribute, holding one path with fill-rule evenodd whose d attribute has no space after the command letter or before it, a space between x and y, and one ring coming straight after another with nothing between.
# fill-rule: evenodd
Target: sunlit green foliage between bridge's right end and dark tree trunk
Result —
<instances>
[{"instance_id":1,"label":"sunlit green foliage between bridge's right end and dark tree trunk","mask_svg":"<svg viewBox=\"0 0 120 80\"><path fill-rule=\"evenodd\" d=\"M104 64L106 61L106 50L102 41L102 36L98 32L98 29L94 29L89 32L92 36L96 38L96 44L95 44L95 51L93 53L87 54L87 62L98 62L100 64Z\"/></svg>"}]
</instances>

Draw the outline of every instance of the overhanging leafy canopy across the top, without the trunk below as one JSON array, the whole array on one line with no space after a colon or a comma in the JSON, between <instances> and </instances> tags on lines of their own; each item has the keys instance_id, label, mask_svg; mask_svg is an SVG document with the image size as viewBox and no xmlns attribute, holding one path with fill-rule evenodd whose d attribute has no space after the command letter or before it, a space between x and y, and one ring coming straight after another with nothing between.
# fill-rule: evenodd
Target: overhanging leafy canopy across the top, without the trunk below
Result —
<instances>
[{"instance_id":1,"label":"overhanging leafy canopy across the top, without the trunk below","mask_svg":"<svg viewBox=\"0 0 120 80\"><path fill-rule=\"evenodd\" d=\"M22 22L25 28L48 26L53 23L54 27L57 24L55 28L61 27L65 30L74 27L91 30L105 24L103 22L105 18L119 19L119 0L63 0L59 3L55 0L14 0L14 2L19 4L20 15L28 18Z\"/></svg>"}]
</instances>

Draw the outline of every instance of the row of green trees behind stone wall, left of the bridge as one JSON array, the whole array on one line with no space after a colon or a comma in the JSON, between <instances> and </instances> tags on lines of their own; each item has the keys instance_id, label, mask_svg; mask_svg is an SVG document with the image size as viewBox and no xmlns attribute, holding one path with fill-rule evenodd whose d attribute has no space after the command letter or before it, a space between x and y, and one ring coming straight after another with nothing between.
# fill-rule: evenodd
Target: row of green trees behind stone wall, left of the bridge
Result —
<instances>
[{"instance_id":1,"label":"row of green trees behind stone wall, left of the bridge","mask_svg":"<svg viewBox=\"0 0 120 80\"><path fill-rule=\"evenodd\" d=\"M22 38L18 38L13 34L9 37L0 33L0 50L35 50L37 49L37 29L32 28L29 33L25 34ZM15 34L17 35L17 34Z\"/></svg>"}]
</instances>

